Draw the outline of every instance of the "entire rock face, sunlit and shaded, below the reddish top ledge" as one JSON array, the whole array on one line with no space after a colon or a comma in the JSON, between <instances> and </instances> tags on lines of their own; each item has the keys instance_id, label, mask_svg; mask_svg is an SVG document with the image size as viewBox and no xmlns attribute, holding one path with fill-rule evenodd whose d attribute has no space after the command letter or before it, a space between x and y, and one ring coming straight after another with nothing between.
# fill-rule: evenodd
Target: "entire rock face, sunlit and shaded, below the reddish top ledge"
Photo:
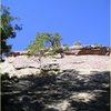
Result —
<instances>
[{"instance_id":1,"label":"entire rock face, sunlit and shaded, below the reddish top ledge","mask_svg":"<svg viewBox=\"0 0 111 111\"><path fill-rule=\"evenodd\" d=\"M9 57L0 63L2 111L109 111L110 57ZM40 69L44 74L40 73ZM48 71L58 71L58 74ZM13 77L17 75L17 77ZM10 104L10 105L9 105Z\"/></svg>"}]
</instances>

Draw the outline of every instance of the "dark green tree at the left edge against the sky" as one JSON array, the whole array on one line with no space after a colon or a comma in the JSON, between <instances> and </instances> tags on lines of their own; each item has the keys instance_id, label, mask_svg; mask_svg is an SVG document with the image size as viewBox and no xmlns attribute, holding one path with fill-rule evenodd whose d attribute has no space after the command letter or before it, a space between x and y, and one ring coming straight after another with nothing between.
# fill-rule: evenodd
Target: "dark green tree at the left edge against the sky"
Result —
<instances>
[{"instance_id":1,"label":"dark green tree at the left edge against the sky","mask_svg":"<svg viewBox=\"0 0 111 111\"><path fill-rule=\"evenodd\" d=\"M21 30L22 28L18 24L13 24L14 20L19 20L16 17L11 17L9 12L9 8L1 6L1 24L0 24L0 40L1 40L1 48L0 48L0 59L2 60L2 54L9 52L11 50L11 44L7 43L9 38L16 38L17 30Z\"/></svg>"}]
</instances>

